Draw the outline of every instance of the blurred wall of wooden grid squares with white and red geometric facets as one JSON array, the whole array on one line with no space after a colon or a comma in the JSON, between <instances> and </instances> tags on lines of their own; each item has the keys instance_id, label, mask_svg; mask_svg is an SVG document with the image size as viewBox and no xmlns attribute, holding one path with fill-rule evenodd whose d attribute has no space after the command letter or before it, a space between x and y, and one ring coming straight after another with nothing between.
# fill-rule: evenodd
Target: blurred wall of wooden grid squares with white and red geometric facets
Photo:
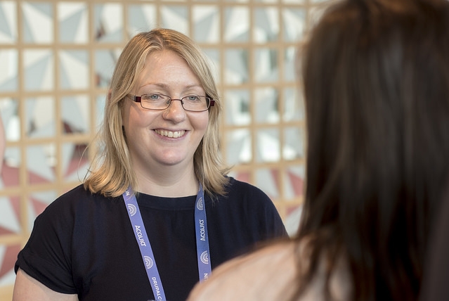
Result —
<instances>
[{"instance_id":1,"label":"blurred wall of wooden grid squares with white and red geometric facets","mask_svg":"<svg viewBox=\"0 0 449 301\"><path fill-rule=\"evenodd\" d=\"M78 185L121 49L137 32L192 37L224 103L221 154L231 175L270 196L293 233L304 183L304 110L294 51L330 1L0 1L0 300L34 218Z\"/></svg>"}]
</instances>

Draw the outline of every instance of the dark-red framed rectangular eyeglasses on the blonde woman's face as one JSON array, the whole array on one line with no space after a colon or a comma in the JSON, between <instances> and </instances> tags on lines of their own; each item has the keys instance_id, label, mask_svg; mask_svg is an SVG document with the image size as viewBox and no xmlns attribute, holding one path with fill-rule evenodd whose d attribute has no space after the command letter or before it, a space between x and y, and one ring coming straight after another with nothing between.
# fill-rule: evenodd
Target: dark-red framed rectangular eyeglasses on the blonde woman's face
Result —
<instances>
[{"instance_id":1,"label":"dark-red framed rectangular eyeglasses on the blonde woman's face","mask_svg":"<svg viewBox=\"0 0 449 301\"><path fill-rule=\"evenodd\" d=\"M188 95L181 99L171 98L164 94L143 94L142 96L128 95L136 103L141 103L142 108L148 110L165 110L171 101L181 101L183 109L191 112L202 112L214 106L215 101L207 96Z\"/></svg>"}]
</instances>

